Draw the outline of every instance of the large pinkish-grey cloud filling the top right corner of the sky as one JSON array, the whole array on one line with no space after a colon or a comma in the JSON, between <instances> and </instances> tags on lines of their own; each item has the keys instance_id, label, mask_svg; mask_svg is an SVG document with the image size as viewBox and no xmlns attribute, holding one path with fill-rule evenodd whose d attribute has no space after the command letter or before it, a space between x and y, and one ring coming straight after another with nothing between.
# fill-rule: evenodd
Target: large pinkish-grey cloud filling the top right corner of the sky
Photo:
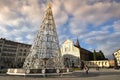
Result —
<instances>
[{"instance_id":1,"label":"large pinkish-grey cloud filling the top right corner of the sky","mask_svg":"<svg viewBox=\"0 0 120 80\"><path fill-rule=\"evenodd\" d=\"M67 0L64 6L68 14L94 25L100 25L111 18L120 17L120 5L115 1Z\"/></svg>"}]
</instances>

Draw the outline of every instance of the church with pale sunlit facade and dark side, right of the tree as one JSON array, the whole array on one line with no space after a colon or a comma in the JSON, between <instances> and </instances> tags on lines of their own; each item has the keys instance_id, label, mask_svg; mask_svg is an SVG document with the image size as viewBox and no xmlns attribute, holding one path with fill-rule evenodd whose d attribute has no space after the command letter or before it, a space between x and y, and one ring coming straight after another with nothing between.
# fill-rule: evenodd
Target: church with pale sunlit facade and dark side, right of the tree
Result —
<instances>
[{"instance_id":1,"label":"church with pale sunlit facade and dark side, right of the tree","mask_svg":"<svg viewBox=\"0 0 120 80\"><path fill-rule=\"evenodd\" d=\"M76 41L76 44L73 41L67 39L62 43L61 53L63 56L64 65L66 67L80 67L81 60L92 60L93 53L80 47L79 41Z\"/></svg>"}]
</instances>

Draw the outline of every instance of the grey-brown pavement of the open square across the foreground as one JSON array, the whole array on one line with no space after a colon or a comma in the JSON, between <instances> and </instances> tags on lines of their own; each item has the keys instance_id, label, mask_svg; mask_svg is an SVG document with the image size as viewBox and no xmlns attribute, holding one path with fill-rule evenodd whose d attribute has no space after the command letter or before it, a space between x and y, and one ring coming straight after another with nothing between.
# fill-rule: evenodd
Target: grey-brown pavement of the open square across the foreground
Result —
<instances>
[{"instance_id":1,"label":"grey-brown pavement of the open square across the foreground","mask_svg":"<svg viewBox=\"0 0 120 80\"><path fill-rule=\"evenodd\" d=\"M9 76L6 74L0 74L0 80L120 80L120 69L100 69L96 71L90 69L89 74L85 74L85 71L76 71L71 74L60 76Z\"/></svg>"}]
</instances>

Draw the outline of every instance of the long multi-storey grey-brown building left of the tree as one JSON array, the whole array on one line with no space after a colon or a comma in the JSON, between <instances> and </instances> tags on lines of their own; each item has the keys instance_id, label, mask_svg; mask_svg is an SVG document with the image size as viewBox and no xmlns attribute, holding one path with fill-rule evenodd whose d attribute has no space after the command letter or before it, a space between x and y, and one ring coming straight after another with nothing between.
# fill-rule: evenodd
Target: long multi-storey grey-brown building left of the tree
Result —
<instances>
[{"instance_id":1,"label":"long multi-storey grey-brown building left of the tree","mask_svg":"<svg viewBox=\"0 0 120 80\"><path fill-rule=\"evenodd\" d=\"M0 68L22 67L31 45L0 39Z\"/></svg>"}]
</instances>

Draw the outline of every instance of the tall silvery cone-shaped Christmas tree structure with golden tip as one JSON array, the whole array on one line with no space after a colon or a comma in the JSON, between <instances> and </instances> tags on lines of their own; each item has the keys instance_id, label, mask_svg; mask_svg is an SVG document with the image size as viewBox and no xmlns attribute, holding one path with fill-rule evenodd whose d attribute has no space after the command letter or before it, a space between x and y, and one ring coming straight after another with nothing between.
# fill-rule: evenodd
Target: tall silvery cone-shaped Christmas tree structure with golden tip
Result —
<instances>
[{"instance_id":1,"label":"tall silvery cone-shaped Christmas tree structure with golden tip","mask_svg":"<svg viewBox=\"0 0 120 80\"><path fill-rule=\"evenodd\" d=\"M49 3L23 68L62 69L63 67L56 26Z\"/></svg>"}]
</instances>

